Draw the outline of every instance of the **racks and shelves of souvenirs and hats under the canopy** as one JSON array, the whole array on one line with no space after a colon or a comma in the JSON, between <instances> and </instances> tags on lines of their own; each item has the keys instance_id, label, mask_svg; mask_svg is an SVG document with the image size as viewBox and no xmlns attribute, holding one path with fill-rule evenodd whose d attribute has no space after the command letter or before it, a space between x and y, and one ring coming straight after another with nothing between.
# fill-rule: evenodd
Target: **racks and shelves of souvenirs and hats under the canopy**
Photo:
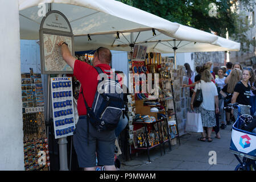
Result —
<instances>
[{"instance_id":1,"label":"racks and shelves of souvenirs and hats under the canopy","mask_svg":"<svg viewBox=\"0 0 256 182\"><path fill-rule=\"evenodd\" d=\"M158 147L165 152L165 144L180 144L189 106L189 90L185 69L174 69L173 57L147 52L147 46L136 45L129 59L128 112L129 144L131 153ZM179 127L180 125L180 127Z\"/></svg>"}]
</instances>

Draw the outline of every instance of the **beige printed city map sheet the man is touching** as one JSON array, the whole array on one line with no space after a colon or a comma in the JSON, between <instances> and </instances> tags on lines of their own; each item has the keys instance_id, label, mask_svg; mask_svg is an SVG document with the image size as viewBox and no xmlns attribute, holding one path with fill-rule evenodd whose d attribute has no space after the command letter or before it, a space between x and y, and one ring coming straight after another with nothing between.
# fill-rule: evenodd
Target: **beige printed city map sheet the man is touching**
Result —
<instances>
[{"instance_id":1,"label":"beige printed city map sheet the man is touching","mask_svg":"<svg viewBox=\"0 0 256 182\"><path fill-rule=\"evenodd\" d=\"M63 60L61 49L57 44L60 41L68 44L72 52L72 39L69 36L43 34L44 40L44 71L72 71L72 68Z\"/></svg>"}]
</instances>

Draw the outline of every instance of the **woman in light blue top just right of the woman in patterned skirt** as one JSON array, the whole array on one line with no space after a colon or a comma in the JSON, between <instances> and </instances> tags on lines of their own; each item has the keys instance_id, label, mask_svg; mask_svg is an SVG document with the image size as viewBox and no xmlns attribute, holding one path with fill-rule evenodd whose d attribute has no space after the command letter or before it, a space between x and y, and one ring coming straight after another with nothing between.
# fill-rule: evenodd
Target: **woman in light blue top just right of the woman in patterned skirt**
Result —
<instances>
[{"instance_id":1,"label":"woman in light blue top just right of the woman in patterned skirt","mask_svg":"<svg viewBox=\"0 0 256 182\"><path fill-rule=\"evenodd\" d=\"M222 68L218 68L218 77L215 79L216 85L217 85L217 90L218 90L218 95L219 95L219 100L218 100L218 107L220 109L220 116L221 116L221 129L225 129L226 126L226 117L225 117L225 112L224 112L224 101L223 101L223 97L220 94L220 90L224 88L225 86L225 78L224 77L224 69ZM217 137L219 137L219 135L217 135Z\"/></svg>"}]
</instances>

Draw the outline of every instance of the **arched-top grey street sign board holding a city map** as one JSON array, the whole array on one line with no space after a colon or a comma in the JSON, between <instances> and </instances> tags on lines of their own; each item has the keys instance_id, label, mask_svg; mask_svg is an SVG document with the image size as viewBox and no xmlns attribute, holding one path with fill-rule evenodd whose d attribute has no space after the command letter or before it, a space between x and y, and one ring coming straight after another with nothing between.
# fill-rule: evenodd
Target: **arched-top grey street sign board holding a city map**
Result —
<instances>
[{"instance_id":1,"label":"arched-top grey street sign board holding a city map","mask_svg":"<svg viewBox=\"0 0 256 182\"><path fill-rule=\"evenodd\" d=\"M40 59L42 74L73 73L73 70L64 61L61 41L68 44L71 55L75 55L73 48L74 37L68 19L60 11L49 11L42 19L39 29Z\"/></svg>"}]
</instances>

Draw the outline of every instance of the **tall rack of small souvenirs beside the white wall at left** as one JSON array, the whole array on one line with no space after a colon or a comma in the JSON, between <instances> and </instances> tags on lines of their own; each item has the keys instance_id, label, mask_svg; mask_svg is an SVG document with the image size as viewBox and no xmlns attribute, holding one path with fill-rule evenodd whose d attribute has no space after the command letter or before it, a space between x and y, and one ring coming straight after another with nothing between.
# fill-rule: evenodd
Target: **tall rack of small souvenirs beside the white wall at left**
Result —
<instances>
[{"instance_id":1,"label":"tall rack of small souvenirs beside the white wall at left","mask_svg":"<svg viewBox=\"0 0 256 182\"><path fill-rule=\"evenodd\" d=\"M48 171L49 150L44 120L44 97L40 73L21 74L24 167L26 171Z\"/></svg>"}]
</instances>

